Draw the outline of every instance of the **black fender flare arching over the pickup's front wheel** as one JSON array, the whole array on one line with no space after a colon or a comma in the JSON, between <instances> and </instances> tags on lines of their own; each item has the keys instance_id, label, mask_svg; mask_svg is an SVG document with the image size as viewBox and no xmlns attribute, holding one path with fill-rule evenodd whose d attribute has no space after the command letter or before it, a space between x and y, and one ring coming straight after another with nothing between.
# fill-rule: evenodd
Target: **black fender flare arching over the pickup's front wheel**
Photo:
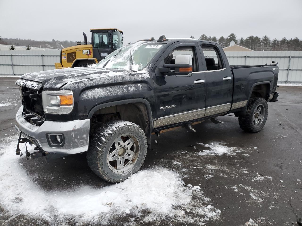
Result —
<instances>
[{"instance_id":1,"label":"black fender flare arching over the pickup's front wheel","mask_svg":"<svg viewBox=\"0 0 302 226\"><path fill-rule=\"evenodd\" d=\"M146 106L147 114L148 114L148 120L149 120L149 136L151 136L152 130L153 130L153 117L152 117L152 110L149 101L143 98L136 98L136 99L127 99L127 100L119 100L119 101L113 101L108 103L103 103L94 106L87 116L87 119L91 119L92 115L99 109L116 106L116 105L122 105L122 104L131 104L131 103L143 103Z\"/></svg>"}]
</instances>

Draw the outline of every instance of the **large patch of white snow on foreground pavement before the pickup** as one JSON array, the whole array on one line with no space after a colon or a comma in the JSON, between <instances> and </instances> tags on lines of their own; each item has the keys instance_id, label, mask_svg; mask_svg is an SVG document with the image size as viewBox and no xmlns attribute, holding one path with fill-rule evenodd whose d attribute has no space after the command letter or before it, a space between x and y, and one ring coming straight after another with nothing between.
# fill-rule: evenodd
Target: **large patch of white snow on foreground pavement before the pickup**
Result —
<instances>
[{"instance_id":1,"label":"large patch of white snow on foreground pavement before the pickup","mask_svg":"<svg viewBox=\"0 0 302 226\"><path fill-rule=\"evenodd\" d=\"M24 150L24 145L20 146ZM127 214L140 217L145 210L152 213L143 216L143 222L170 219L204 224L206 220L219 219L221 211L208 203L210 199L198 185L185 186L179 174L165 168L139 171L122 183L102 188L58 187L45 191L26 174L15 148L15 141L0 143L0 206L8 215L24 214L50 224L64 224L64 218L106 224ZM190 215L191 212L194 214Z\"/></svg>"}]
</instances>

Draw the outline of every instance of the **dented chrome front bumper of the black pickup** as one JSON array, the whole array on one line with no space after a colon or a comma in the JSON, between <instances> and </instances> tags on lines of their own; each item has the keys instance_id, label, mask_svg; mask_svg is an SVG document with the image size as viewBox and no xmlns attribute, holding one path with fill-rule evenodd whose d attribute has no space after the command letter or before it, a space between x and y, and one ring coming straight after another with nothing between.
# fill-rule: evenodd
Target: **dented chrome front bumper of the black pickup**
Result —
<instances>
[{"instance_id":1,"label":"dented chrome front bumper of the black pickup","mask_svg":"<svg viewBox=\"0 0 302 226\"><path fill-rule=\"evenodd\" d=\"M16 129L22 136L30 138L34 144L49 154L76 154L88 150L90 119L67 122L45 121L35 126L25 120L22 115L23 106L16 114ZM64 134L65 143L62 147L51 147L48 134Z\"/></svg>"}]
</instances>

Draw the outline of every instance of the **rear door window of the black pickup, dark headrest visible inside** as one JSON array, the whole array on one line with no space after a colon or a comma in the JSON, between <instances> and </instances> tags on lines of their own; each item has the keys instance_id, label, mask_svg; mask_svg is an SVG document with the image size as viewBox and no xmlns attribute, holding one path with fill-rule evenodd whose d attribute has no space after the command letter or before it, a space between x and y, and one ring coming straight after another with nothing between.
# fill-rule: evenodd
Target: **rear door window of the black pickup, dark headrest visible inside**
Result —
<instances>
[{"instance_id":1,"label":"rear door window of the black pickup, dark headrest visible inside","mask_svg":"<svg viewBox=\"0 0 302 226\"><path fill-rule=\"evenodd\" d=\"M207 71L214 71L223 68L223 64L219 55L219 51L214 46L201 46L207 64Z\"/></svg>"}]
</instances>

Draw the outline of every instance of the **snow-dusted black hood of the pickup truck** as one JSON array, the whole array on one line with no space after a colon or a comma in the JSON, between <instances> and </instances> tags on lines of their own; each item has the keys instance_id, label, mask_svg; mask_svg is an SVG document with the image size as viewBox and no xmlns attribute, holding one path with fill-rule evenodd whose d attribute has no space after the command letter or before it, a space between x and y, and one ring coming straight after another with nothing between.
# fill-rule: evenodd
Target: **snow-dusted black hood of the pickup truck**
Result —
<instances>
[{"instance_id":1,"label":"snow-dusted black hood of the pickup truck","mask_svg":"<svg viewBox=\"0 0 302 226\"><path fill-rule=\"evenodd\" d=\"M147 72L141 72L146 74ZM148 74L148 73L147 73ZM67 83L98 77L130 75L127 70L98 67L74 67L24 74L21 79L42 83L44 89L60 89ZM149 77L149 75L148 75Z\"/></svg>"}]
</instances>

